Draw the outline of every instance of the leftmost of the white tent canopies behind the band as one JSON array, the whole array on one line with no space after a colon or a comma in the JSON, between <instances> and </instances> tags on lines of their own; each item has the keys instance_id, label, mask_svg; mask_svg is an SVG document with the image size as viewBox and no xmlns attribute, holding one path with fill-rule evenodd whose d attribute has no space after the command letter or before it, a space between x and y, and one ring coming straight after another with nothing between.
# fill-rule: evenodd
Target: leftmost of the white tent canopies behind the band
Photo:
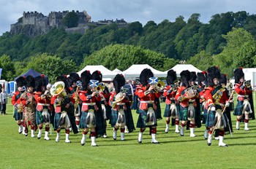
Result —
<instances>
[{"instance_id":1,"label":"leftmost of the white tent canopies behind the band","mask_svg":"<svg viewBox=\"0 0 256 169\"><path fill-rule=\"evenodd\" d=\"M83 73L83 71L90 71L91 74L94 71L100 71L102 73L102 81L112 81L113 78L116 76L116 73L110 71L108 68L102 65L88 65L84 67L82 70L78 71L79 76Z\"/></svg>"}]
</instances>

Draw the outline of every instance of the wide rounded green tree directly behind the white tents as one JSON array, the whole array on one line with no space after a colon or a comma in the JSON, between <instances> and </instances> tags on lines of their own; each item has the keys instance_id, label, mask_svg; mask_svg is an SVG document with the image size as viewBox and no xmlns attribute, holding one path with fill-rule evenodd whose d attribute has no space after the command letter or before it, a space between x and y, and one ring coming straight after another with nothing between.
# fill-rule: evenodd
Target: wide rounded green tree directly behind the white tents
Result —
<instances>
[{"instance_id":1,"label":"wide rounded green tree directly behind the white tents","mask_svg":"<svg viewBox=\"0 0 256 169\"><path fill-rule=\"evenodd\" d=\"M86 56L80 68L86 65L103 65L110 70L118 68L124 71L132 64L148 64L156 69L165 71L163 68L167 70L172 66L171 63L174 66L177 61L167 59L162 53L143 50L141 47L127 44L114 44L104 47L90 56Z\"/></svg>"}]
</instances>

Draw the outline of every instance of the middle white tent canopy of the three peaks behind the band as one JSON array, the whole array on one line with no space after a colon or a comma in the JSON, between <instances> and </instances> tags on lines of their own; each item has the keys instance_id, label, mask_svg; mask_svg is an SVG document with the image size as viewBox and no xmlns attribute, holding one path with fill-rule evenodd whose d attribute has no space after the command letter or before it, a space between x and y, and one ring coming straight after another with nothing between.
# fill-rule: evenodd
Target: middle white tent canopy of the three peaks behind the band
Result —
<instances>
[{"instance_id":1,"label":"middle white tent canopy of the three peaks behind the band","mask_svg":"<svg viewBox=\"0 0 256 169\"><path fill-rule=\"evenodd\" d=\"M124 77L126 79L135 79L136 77L140 76L140 73L144 68L151 69L154 76L156 77L165 77L167 75L165 72L157 71L157 69L152 68L148 64L135 64L127 68L127 70L123 71Z\"/></svg>"}]
</instances>

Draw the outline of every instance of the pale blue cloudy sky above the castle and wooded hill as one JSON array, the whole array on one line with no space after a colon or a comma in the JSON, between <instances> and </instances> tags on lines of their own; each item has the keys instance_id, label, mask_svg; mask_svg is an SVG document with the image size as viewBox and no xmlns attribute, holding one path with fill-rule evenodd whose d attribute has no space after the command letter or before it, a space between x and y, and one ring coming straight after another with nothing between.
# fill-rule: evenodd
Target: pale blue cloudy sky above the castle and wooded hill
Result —
<instances>
[{"instance_id":1,"label":"pale blue cloudy sky above the castle and wooded hill","mask_svg":"<svg viewBox=\"0 0 256 169\"><path fill-rule=\"evenodd\" d=\"M200 14L200 22L208 23L211 16L225 12L246 11L255 14L255 0L1 0L0 36L10 31L23 12L87 11L91 21L124 19L127 23L139 21L145 25L153 20L174 22L183 16L187 21L193 13Z\"/></svg>"}]
</instances>

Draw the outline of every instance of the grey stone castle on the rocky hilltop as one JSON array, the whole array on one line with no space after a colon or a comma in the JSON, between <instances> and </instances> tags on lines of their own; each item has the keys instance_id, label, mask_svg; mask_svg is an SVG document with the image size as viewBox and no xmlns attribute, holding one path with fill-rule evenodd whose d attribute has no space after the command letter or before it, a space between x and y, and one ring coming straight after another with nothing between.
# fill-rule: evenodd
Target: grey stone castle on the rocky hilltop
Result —
<instances>
[{"instance_id":1,"label":"grey stone castle on the rocky hilltop","mask_svg":"<svg viewBox=\"0 0 256 169\"><path fill-rule=\"evenodd\" d=\"M72 11L75 12L75 11ZM37 11L35 12L23 12L23 17L18 19L18 23L11 25L10 34L26 34L28 36L37 36L47 34L50 28L65 28L65 31L69 33L85 34L86 30L90 28L96 28L101 25L109 25L116 23L119 27L127 26L127 22L124 19L121 20L99 20L98 22L92 22L91 16L86 11L75 13L78 15L78 27L67 28L63 24L64 17L69 11L63 12L50 12L48 16L43 15Z\"/></svg>"}]
</instances>

